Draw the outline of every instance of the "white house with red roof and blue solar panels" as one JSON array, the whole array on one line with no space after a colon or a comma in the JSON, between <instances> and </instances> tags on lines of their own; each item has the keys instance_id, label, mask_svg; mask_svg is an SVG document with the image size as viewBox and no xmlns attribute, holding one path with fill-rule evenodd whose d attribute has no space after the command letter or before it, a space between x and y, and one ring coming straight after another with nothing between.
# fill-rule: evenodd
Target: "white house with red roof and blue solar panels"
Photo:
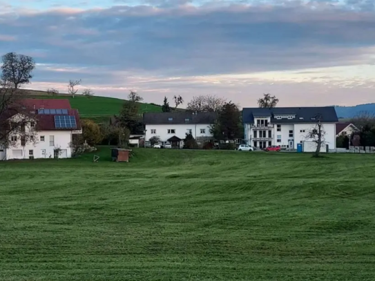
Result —
<instances>
[{"instance_id":1,"label":"white house with red roof and blue solar panels","mask_svg":"<svg viewBox=\"0 0 375 281\"><path fill-rule=\"evenodd\" d=\"M68 99L25 99L22 104L28 116L18 113L8 120L10 124L17 119L26 122L18 132L10 133L10 144L0 149L0 159L71 157L73 135L81 133L81 124Z\"/></svg>"}]
</instances>

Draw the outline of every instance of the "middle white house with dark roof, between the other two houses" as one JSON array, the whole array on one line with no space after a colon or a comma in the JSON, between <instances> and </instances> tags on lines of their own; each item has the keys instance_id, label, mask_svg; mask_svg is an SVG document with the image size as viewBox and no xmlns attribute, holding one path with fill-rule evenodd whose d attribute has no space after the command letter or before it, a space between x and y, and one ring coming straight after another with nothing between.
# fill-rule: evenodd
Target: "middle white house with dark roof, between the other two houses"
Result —
<instances>
[{"instance_id":1,"label":"middle white house with dark roof, between the other two houses","mask_svg":"<svg viewBox=\"0 0 375 281\"><path fill-rule=\"evenodd\" d=\"M151 137L160 137L161 142L171 142L172 146L181 147L186 133L191 133L197 140L211 139L211 124L215 122L216 113L144 113L146 141Z\"/></svg>"}]
</instances>

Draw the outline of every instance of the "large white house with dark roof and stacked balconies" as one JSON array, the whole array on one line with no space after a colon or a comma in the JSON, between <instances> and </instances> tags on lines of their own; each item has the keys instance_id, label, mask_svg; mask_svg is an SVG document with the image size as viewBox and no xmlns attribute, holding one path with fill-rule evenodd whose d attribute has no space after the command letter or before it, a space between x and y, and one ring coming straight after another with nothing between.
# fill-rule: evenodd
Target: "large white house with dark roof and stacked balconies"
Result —
<instances>
[{"instance_id":1,"label":"large white house with dark roof and stacked balconies","mask_svg":"<svg viewBox=\"0 0 375 281\"><path fill-rule=\"evenodd\" d=\"M336 148L334 107L244 108L242 122L247 144L256 148L278 145L297 149L298 144L311 142L308 132L320 119L329 149Z\"/></svg>"}]
</instances>

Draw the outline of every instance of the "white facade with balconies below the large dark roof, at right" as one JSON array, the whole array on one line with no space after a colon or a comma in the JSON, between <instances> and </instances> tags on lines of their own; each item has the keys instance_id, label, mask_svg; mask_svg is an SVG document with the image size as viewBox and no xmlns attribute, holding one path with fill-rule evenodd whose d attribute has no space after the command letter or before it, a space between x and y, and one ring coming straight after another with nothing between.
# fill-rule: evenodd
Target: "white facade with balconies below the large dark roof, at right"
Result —
<instances>
[{"instance_id":1,"label":"white facade with balconies below the large dark roof, at right","mask_svg":"<svg viewBox=\"0 0 375 281\"><path fill-rule=\"evenodd\" d=\"M257 119L264 121L258 123ZM271 124L270 117L254 120L254 124L244 125L245 139L247 144L258 148L278 145L282 148L297 149L298 144L311 141L307 135L309 130L316 126L314 123ZM328 144L329 149L336 149L336 124L323 123L323 130L325 130L325 144Z\"/></svg>"}]
</instances>

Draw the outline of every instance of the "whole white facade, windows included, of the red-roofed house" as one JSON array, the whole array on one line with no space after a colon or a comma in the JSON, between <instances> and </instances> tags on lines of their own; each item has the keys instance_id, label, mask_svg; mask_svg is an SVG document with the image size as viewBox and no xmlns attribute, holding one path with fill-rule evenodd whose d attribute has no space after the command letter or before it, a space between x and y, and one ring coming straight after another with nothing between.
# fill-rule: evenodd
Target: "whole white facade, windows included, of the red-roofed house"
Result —
<instances>
[{"instance_id":1,"label":"whole white facade, windows included, of the red-roofed house","mask_svg":"<svg viewBox=\"0 0 375 281\"><path fill-rule=\"evenodd\" d=\"M13 135L15 137L15 135ZM21 146L21 137L17 142L6 148L1 160L37 158L70 158L72 157L72 131L70 130L41 130L34 135L35 140ZM55 150L59 148L59 152ZM0 152L1 153L1 152ZM1 154L0 154L1 157Z\"/></svg>"}]
</instances>

